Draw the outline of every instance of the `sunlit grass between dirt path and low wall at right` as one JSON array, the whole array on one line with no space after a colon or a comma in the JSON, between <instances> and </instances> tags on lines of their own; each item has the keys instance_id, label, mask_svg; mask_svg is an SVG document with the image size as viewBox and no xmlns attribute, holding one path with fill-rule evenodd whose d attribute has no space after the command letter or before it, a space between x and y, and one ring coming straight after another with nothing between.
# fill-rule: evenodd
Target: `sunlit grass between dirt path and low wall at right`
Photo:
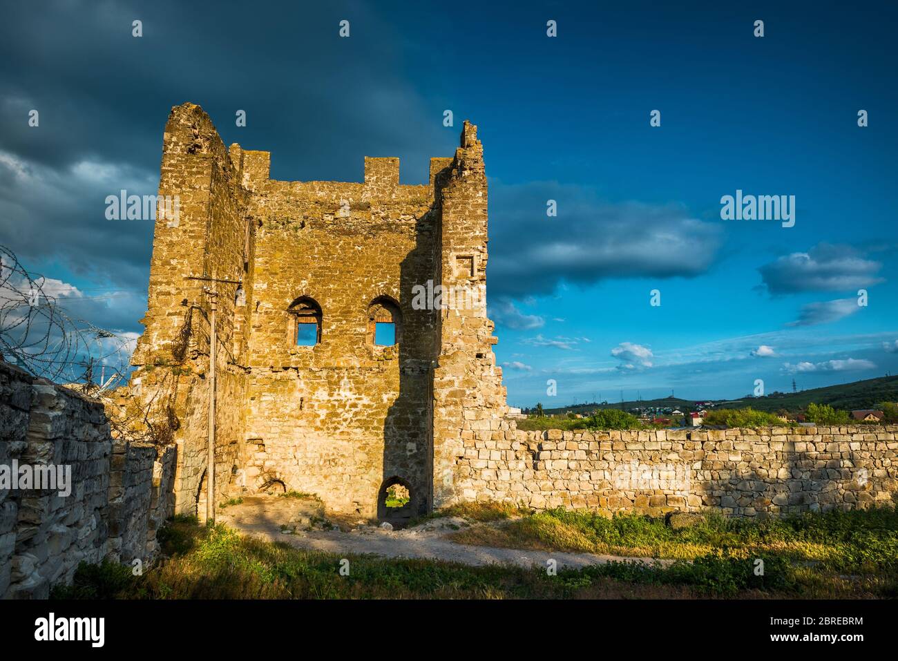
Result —
<instances>
[{"instance_id":1,"label":"sunlit grass between dirt path and low wall at right","mask_svg":"<svg viewBox=\"0 0 898 661\"><path fill-rule=\"evenodd\" d=\"M664 519L555 509L451 533L455 542L544 551L706 561L765 558L814 595L898 595L898 509L880 507L753 520L708 514L674 530ZM850 576L849 579L844 577Z\"/></svg>"}]
</instances>

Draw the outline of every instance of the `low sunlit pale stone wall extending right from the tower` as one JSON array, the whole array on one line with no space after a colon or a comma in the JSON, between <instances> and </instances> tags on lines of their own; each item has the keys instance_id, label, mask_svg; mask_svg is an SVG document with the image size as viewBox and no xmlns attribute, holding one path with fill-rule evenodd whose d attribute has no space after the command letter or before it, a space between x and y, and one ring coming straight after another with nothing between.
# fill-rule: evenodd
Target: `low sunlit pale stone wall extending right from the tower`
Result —
<instances>
[{"instance_id":1,"label":"low sunlit pale stone wall extending right from the tower","mask_svg":"<svg viewBox=\"0 0 898 661\"><path fill-rule=\"evenodd\" d=\"M898 501L898 426L496 431L464 441L462 498L652 515L852 509Z\"/></svg>"}]
</instances>

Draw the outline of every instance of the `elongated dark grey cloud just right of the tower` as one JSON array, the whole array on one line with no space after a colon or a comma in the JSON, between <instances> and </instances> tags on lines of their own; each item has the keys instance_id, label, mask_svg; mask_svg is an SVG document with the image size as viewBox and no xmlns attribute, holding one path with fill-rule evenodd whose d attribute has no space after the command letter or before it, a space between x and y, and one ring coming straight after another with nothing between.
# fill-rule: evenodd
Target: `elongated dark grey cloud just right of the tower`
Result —
<instances>
[{"instance_id":1,"label":"elongated dark grey cloud just right of the tower","mask_svg":"<svg viewBox=\"0 0 898 661\"><path fill-rule=\"evenodd\" d=\"M691 278L709 269L718 225L681 207L611 204L584 186L490 182L490 295L549 295L561 282ZM547 216L547 202L558 216Z\"/></svg>"}]
</instances>

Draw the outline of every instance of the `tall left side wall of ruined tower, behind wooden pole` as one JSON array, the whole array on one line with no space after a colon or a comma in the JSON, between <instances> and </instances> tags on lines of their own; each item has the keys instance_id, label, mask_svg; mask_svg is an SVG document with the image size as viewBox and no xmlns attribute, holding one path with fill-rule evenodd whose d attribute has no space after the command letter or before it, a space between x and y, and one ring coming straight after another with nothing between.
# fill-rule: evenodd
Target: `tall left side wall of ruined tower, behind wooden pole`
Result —
<instances>
[{"instance_id":1,"label":"tall left side wall of ruined tower, behind wooden pole","mask_svg":"<svg viewBox=\"0 0 898 661\"><path fill-rule=\"evenodd\" d=\"M244 181L258 154L228 150L207 114L187 103L165 126L159 196L179 200L176 220L157 212L145 331L131 359L132 410L148 412L159 443L178 445L175 506L205 516L211 297L216 319L216 499L239 489L249 310L237 285L252 285L253 227ZM207 278L207 279L191 279ZM229 280L231 282L220 282ZM236 403L239 402L239 403ZM138 416L142 417L142 416Z\"/></svg>"}]
</instances>

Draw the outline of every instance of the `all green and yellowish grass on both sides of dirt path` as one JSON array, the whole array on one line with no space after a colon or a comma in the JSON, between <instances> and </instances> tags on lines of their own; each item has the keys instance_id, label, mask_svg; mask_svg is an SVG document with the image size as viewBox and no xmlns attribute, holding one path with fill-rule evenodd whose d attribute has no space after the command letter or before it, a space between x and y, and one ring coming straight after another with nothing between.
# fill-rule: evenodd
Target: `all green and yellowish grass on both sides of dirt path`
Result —
<instances>
[{"instance_id":1,"label":"all green and yellowish grass on both sides of dirt path","mask_svg":"<svg viewBox=\"0 0 898 661\"><path fill-rule=\"evenodd\" d=\"M242 537L230 528L173 518L159 532L164 558L143 576L128 565L82 565L55 598L894 598L898 510L883 507L752 521L705 516L681 530L662 519L585 511L535 513L511 504L463 504L436 516L483 523L457 541L550 551L612 552L674 559L667 566L619 561L580 570L469 567L304 551ZM433 517L433 516L431 516ZM757 575L757 560L763 574Z\"/></svg>"}]
</instances>

